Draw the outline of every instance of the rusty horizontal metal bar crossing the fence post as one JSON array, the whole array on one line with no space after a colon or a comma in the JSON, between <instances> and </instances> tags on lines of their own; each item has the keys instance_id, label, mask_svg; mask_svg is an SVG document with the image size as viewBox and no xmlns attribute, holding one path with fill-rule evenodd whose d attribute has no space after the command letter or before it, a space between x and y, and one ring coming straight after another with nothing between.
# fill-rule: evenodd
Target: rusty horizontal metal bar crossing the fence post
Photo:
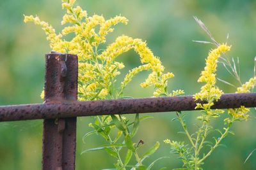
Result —
<instances>
[{"instance_id":1,"label":"rusty horizontal metal bar crossing the fence post","mask_svg":"<svg viewBox=\"0 0 256 170\"><path fill-rule=\"evenodd\" d=\"M202 102L200 102L202 103ZM195 110L193 96L0 106L0 121ZM256 93L223 94L213 109L256 107Z\"/></svg>"}]
</instances>

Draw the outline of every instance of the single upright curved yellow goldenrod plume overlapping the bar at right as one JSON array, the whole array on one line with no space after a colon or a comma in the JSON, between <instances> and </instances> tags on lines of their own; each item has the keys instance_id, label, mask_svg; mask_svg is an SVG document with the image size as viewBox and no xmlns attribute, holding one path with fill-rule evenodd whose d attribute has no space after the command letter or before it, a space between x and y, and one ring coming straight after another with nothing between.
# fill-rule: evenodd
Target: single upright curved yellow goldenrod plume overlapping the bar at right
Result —
<instances>
[{"instance_id":1,"label":"single upright curved yellow goldenrod plume overlapping the bar at right","mask_svg":"<svg viewBox=\"0 0 256 170\"><path fill-rule=\"evenodd\" d=\"M198 82L205 82L205 85L201 87L201 91L199 93L194 95L194 98L196 100L200 99L202 101L207 101L207 103L197 103L196 108L207 110L209 114L212 114L210 108L214 104L213 102L218 101L218 99L221 97L221 94L223 94L223 92L215 85L215 72L217 69L218 58L220 57L221 53L228 52L229 50L230 46L225 44L222 44L218 46L218 48L211 50L206 59L206 66L204 71L202 71L200 78L198 78Z\"/></svg>"}]
</instances>

